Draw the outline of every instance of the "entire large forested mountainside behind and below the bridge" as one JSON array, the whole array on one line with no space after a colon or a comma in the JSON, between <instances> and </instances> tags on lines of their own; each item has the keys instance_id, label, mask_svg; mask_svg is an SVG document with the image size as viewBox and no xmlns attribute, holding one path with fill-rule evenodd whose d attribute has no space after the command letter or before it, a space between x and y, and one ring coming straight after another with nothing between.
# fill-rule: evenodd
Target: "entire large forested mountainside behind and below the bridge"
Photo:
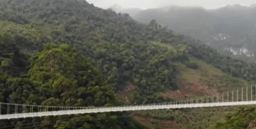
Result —
<instances>
[{"instance_id":1,"label":"entire large forested mountainside behind and below the bridge","mask_svg":"<svg viewBox=\"0 0 256 129\"><path fill-rule=\"evenodd\" d=\"M82 0L0 1L0 29L0 100L5 103L163 103L218 94L256 79L255 63L220 55L209 46L174 34L155 20L145 25L127 14ZM140 122L145 117L171 121L169 126L177 125L177 129L207 128L209 121L220 119L211 115L202 121L205 116L189 115L193 116L191 120L180 111L165 111L42 117L1 121L0 125L146 128L129 117L133 116ZM161 125L154 128L170 128Z\"/></svg>"}]
</instances>

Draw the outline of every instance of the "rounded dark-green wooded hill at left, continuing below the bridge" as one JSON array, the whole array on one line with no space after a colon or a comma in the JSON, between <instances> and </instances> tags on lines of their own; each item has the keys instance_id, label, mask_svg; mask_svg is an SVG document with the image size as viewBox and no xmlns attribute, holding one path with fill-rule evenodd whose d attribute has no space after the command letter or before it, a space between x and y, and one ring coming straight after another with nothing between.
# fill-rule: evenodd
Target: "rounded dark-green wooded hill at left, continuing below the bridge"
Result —
<instances>
[{"instance_id":1,"label":"rounded dark-green wooded hill at left, continuing below the bridge","mask_svg":"<svg viewBox=\"0 0 256 129\"><path fill-rule=\"evenodd\" d=\"M1 71L1 102L54 106L114 106L120 104L111 87L96 68L69 45L49 44L43 51L31 55L29 59L24 59L27 56L21 54L11 43L1 42L0 45L0 57L3 59L1 68L5 69ZM27 73L12 71L12 68L17 70L24 67L28 68ZM22 72L22 70L19 71ZM19 77L16 77L15 75L18 74ZM6 112L5 109L2 109L2 113ZM1 127L9 126L9 128L27 128L28 124L31 128L57 129L144 128L140 124L131 122L129 117L118 117L120 117L118 114L42 117L17 121L16 124L3 121L0 125ZM82 121L77 122L78 120Z\"/></svg>"}]
</instances>

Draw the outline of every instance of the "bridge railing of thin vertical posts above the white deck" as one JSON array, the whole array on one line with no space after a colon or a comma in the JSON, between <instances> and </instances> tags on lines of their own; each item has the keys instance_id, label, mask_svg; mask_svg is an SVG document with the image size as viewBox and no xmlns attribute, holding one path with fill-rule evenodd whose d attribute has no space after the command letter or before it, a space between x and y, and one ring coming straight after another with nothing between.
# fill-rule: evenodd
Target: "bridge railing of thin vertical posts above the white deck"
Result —
<instances>
[{"instance_id":1,"label":"bridge railing of thin vertical posts above the white deck","mask_svg":"<svg viewBox=\"0 0 256 129\"><path fill-rule=\"evenodd\" d=\"M200 104L200 103L227 103L239 101L256 101L256 85L246 86L238 90L229 91L222 94L200 97L197 99L187 99L175 102L144 104L144 105L130 105L130 106L112 106L111 108L138 108L140 106L157 106L157 105L182 105L182 104ZM159 106L157 106L159 107ZM25 114L34 112L56 112L66 110L90 110L90 109L105 109L107 107L80 107L80 106L42 106L30 104L12 104L0 103L0 115L4 114Z\"/></svg>"}]
</instances>

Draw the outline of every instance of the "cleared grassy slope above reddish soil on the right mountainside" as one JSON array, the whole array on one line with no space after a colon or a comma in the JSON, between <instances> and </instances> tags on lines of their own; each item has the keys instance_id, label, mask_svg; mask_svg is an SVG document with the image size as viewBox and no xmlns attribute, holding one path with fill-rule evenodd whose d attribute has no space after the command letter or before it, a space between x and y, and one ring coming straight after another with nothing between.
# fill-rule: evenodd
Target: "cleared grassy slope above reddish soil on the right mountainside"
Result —
<instances>
[{"instance_id":1,"label":"cleared grassy slope above reddish soil on the right mountainside","mask_svg":"<svg viewBox=\"0 0 256 129\"><path fill-rule=\"evenodd\" d=\"M226 74L214 66L204 63L204 61L196 59L195 57L190 57L190 61L191 63L198 64L199 68L195 70L187 68L181 64L181 73L178 80L201 86L207 86L209 88L215 88L217 92L226 92L236 88L250 86L248 81L232 77L231 75Z\"/></svg>"}]
</instances>

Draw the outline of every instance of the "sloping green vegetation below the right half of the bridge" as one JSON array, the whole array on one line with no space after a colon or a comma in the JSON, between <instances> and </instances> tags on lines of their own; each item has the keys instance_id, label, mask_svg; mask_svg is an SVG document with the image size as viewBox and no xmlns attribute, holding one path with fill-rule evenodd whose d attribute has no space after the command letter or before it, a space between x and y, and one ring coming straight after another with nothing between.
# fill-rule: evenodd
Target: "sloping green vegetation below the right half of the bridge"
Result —
<instances>
[{"instance_id":1,"label":"sloping green vegetation below the right half of the bridge","mask_svg":"<svg viewBox=\"0 0 256 129\"><path fill-rule=\"evenodd\" d=\"M237 111L237 107L152 110L136 115L140 117L151 117L161 121L176 121L183 128L209 128L211 124L219 122L221 118L233 114L234 111ZM161 124L158 125L162 126Z\"/></svg>"}]
</instances>

